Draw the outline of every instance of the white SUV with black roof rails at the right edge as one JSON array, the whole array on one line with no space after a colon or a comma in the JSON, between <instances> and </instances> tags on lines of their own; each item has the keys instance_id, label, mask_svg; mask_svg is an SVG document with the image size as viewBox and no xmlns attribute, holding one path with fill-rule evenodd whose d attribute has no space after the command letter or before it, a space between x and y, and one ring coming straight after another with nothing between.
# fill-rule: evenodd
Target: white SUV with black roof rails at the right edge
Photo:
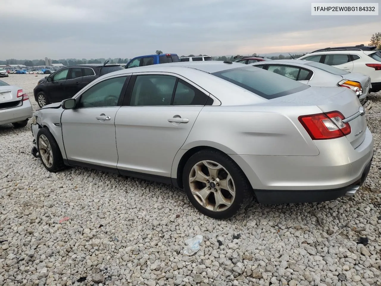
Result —
<instances>
[{"instance_id":1,"label":"white SUV with black roof rails at the right edge","mask_svg":"<svg viewBox=\"0 0 381 286\"><path fill-rule=\"evenodd\" d=\"M316 61L348 72L359 72L371 78L371 92L381 90L381 52L374 46L325 48L298 59Z\"/></svg>"}]
</instances>

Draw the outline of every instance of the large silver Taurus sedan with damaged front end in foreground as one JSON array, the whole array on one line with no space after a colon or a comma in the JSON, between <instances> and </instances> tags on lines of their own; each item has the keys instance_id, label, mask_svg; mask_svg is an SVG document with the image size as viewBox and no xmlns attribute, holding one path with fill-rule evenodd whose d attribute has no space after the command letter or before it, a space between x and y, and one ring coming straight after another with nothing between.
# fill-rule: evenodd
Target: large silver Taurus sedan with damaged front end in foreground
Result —
<instances>
[{"instance_id":1,"label":"large silver Taurus sedan with damaged front end in foreground","mask_svg":"<svg viewBox=\"0 0 381 286\"><path fill-rule=\"evenodd\" d=\"M373 137L345 87L310 87L229 61L112 72L32 117L51 172L90 167L184 188L203 214L352 196Z\"/></svg>"}]
</instances>

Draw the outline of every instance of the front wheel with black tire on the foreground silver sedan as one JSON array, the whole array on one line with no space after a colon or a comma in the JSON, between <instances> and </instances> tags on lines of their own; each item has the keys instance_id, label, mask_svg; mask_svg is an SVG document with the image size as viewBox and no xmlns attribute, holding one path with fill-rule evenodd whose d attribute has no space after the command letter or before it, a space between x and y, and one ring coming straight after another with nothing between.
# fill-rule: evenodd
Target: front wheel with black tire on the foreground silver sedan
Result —
<instances>
[{"instance_id":1,"label":"front wheel with black tire on the foreground silver sedan","mask_svg":"<svg viewBox=\"0 0 381 286\"><path fill-rule=\"evenodd\" d=\"M40 142L40 140L42 140L42 142ZM38 153L45 169L53 173L64 169L65 165L62 159L61 150L48 128L44 127L38 130L36 141Z\"/></svg>"}]
</instances>

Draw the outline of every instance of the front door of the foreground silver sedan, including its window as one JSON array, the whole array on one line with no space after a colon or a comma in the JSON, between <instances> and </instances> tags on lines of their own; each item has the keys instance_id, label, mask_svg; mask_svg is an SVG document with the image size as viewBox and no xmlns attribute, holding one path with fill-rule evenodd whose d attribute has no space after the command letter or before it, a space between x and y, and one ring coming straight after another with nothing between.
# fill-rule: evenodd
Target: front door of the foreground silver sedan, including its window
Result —
<instances>
[{"instance_id":1,"label":"front door of the foreground silver sedan, including its window","mask_svg":"<svg viewBox=\"0 0 381 286\"><path fill-rule=\"evenodd\" d=\"M128 76L108 77L76 96L74 109L62 112L62 138L71 165L114 168L118 162L115 114Z\"/></svg>"}]
</instances>

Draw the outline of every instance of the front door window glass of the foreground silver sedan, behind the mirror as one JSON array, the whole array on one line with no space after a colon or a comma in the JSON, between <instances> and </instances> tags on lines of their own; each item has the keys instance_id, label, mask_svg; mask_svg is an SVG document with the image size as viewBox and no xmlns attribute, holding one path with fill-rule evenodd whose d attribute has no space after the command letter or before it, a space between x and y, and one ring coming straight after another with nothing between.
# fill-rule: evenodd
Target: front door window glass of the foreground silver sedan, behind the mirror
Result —
<instances>
[{"instance_id":1,"label":"front door window glass of the foreground silver sedan, behind the mirror","mask_svg":"<svg viewBox=\"0 0 381 286\"><path fill-rule=\"evenodd\" d=\"M126 76L106 79L90 87L79 98L79 108L117 106Z\"/></svg>"}]
</instances>

